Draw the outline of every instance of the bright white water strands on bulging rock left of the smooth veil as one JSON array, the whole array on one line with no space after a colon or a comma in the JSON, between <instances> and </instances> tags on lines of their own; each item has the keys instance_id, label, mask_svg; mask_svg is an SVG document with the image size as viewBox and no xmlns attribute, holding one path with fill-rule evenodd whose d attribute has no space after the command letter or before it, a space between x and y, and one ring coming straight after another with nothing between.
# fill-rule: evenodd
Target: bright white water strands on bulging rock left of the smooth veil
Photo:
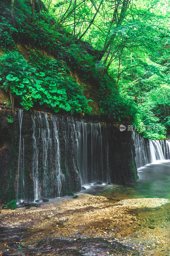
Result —
<instances>
[{"instance_id":1,"label":"bright white water strands on bulging rock left of the smooth veil","mask_svg":"<svg viewBox=\"0 0 170 256\"><path fill-rule=\"evenodd\" d=\"M60 166L58 122L54 116L36 112L33 122L33 164L35 200L40 197L60 197L65 176Z\"/></svg>"}]
</instances>

